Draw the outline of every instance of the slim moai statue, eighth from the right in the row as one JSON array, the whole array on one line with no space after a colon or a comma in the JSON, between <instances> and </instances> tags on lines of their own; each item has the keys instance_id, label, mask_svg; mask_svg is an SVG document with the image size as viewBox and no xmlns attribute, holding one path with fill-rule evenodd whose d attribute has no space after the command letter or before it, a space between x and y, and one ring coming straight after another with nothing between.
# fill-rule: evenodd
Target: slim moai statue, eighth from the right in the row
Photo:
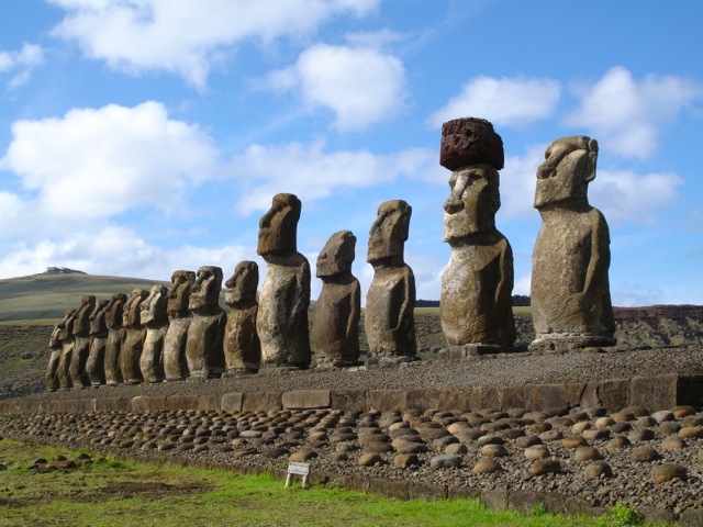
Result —
<instances>
[{"instance_id":1,"label":"slim moai statue, eighth from the right in the row","mask_svg":"<svg viewBox=\"0 0 703 527\"><path fill-rule=\"evenodd\" d=\"M166 303L168 329L164 339L164 374L167 381L182 381L188 377L186 343L188 327L193 319L188 303L193 283L193 271L179 270L171 274L171 289Z\"/></svg>"}]
</instances>

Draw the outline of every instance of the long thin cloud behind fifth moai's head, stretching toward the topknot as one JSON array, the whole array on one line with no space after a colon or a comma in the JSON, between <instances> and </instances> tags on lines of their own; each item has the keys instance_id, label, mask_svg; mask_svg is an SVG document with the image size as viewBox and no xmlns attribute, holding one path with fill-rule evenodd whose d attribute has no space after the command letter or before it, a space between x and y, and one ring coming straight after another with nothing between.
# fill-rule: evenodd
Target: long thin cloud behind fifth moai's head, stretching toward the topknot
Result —
<instances>
[{"instance_id":1,"label":"long thin cloud behind fifth moai's head, stretching toward the topknot","mask_svg":"<svg viewBox=\"0 0 703 527\"><path fill-rule=\"evenodd\" d=\"M422 179L436 165L436 153L429 149L410 148L378 156L368 150L326 153L324 146L320 141L309 145L249 146L232 164L243 183L237 211L241 214L266 211L278 192L292 192L306 203L401 176Z\"/></svg>"}]
</instances>

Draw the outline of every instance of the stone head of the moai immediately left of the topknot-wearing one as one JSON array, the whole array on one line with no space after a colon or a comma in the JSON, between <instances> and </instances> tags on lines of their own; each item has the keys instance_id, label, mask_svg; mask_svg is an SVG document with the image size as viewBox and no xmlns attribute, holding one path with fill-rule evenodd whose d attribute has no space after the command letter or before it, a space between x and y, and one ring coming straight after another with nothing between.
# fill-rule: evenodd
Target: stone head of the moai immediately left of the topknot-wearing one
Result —
<instances>
[{"instance_id":1,"label":"stone head of the moai immediately left of the topknot-wearing one","mask_svg":"<svg viewBox=\"0 0 703 527\"><path fill-rule=\"evenodd\" d=\"M389 259L403 260L403 249L410 229L412 208L403 200L381 203L369 232L367 261L382 264Z\"/></svg>"}]
</instances>

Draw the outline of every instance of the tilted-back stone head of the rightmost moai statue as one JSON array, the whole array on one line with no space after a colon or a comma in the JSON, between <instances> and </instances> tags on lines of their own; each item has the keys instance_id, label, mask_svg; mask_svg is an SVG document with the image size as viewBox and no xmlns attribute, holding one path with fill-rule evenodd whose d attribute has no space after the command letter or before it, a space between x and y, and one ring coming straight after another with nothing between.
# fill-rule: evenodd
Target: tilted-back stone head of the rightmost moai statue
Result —
<instances>
[{"instance_id":1,"label":"tilted-back stone head of the rightmost moai statue","mask_svg":"<svg viewBox=\"0 0 703 527\"><path fill-rule=\"evenodd\" d=\"M583 135L562 137L545 152L537 168L535 209L563 202L588 203L588 186L595 178L598 142Z\"/></svg>"}]
</instances>

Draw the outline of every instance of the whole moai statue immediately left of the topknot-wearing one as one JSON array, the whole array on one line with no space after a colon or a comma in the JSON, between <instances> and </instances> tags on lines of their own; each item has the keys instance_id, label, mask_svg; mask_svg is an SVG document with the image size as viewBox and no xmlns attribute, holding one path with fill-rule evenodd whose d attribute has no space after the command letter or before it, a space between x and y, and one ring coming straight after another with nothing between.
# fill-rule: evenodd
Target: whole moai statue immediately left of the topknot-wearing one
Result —
<instances>
[{"instance_id":1,"label":"whole moai statue immediately left of the topknot-wearing one","mask_svg":"<svg viewBox=\"0 0 703 527\"><path fill-rule=\"evenodd\" d=\"M415 277L403 255L411 214L404 201L386 201L369 232L367 261L373 266L373 280L364 317L369 352L398 362L415 360L417 351Z\"/></svg>"}]
</instances>

